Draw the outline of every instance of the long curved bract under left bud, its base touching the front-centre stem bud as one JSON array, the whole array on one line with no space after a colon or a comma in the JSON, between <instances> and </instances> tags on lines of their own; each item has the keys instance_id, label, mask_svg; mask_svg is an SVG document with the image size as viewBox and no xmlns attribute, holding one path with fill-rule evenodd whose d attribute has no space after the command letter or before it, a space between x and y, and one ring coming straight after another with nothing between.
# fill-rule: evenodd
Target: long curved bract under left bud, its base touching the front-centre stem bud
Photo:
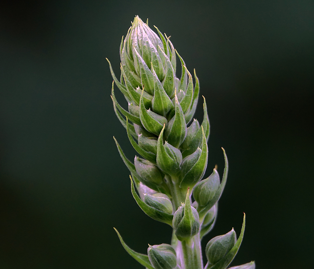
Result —
<instances>
[{"instance_id":1,"label":"long curved bract under left bud, its base touching the front-centre stem bud","mask_svg":"<svg viewBox=\"0 0 314 269\"><path fill-rule=\"evenodd\" d=\"M167 224L169 224L171 226L172 225L173 215L167 214L167 213L162 212L162 211L159 211L156 208L150 207L148 204L143 202L141 200L141 198L138 197L138 194L136 193L136 191L134 189L134 184L133 184L133 180L132 180L131 176L130 176L130 179L131 179L131 192L132 192L132 195L133 195L136 203L144 211L144 213L147 216L149 216L152 219L154 219L154 220L158 220L160 222L167 223Z\"/></svg>"}]
</instances>

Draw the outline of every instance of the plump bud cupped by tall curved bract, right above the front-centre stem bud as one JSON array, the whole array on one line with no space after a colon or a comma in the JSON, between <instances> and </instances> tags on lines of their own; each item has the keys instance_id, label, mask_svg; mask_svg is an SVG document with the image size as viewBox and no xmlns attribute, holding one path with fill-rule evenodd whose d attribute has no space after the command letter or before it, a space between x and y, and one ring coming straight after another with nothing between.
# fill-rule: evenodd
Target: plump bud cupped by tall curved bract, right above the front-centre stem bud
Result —
<instances>
[{"instance_id":1,"label":"plump bud cupped by tall curved bract, right above the front-centre stem bud","mask_svg":"<svg viewBox=\"0 0 314 269\"><path fill-rule=\"evenodd\" d=\"M207 206L220 186L220 180L217 170L214 168L213 173L206 179L201 180L193 189L193 198L198 202L199 207Z\"/></svg>"}]
</instances>

